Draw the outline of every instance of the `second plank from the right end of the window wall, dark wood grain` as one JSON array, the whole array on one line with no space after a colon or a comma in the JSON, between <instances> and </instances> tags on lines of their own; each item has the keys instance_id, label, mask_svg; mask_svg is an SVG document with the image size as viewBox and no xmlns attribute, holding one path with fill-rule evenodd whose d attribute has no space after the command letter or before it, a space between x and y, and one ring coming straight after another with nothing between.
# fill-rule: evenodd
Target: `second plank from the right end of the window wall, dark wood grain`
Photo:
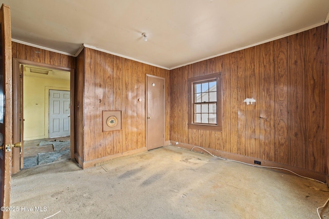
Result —
<instances>
[{"instance_id":1,"label":"second plank from the right end of the window wall, dark wood grain","mask_svg":"<svg viewBox=\"0 0 329 219\"><path fill-rule=\"evenodd\" d=\"M288 36L289 165L305 167L305 32Z\"/></svg>"}]
</instances>

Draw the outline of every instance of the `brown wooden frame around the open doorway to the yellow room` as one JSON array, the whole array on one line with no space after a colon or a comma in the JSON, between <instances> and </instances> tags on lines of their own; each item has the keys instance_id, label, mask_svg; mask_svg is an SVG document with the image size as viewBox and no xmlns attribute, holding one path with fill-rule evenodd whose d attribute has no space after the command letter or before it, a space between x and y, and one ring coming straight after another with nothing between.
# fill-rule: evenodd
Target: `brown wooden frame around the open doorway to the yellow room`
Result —
<instances>
[{"instance_id":1,"label":"brown wooden frame around the open doorway to the yellow room","mask_svg":"<svg viewBox=\"0 0 329 219\"><path fill-rule=\"evenodd\" d=\"M24 59L13 58L13 114L20 115L13 118L13 140L14 142L23 141L23 134L21 133L21 126L23 127L23 106L21 107L21 97L23 98L23 87L21 87L20 65L34 65L38 67L45 67L70 72L70 157L74 158L75 154L75 116L74 116L74 88L75 88L75 69L69 67L62 67L57 65L50 65L40 62L33 62ZM23 76L22 76L23 77ZM23 86L23 85L22 85ZM23 100L23 99L22 99ZM24 101L24 100L23 100ZM21 113L22 112L22 113ZM21 115L22 114L22 115ZM17 141L15 141L17 140ZM24 157L23 149L22 157ZM21 159L21 169L23 168L23 161ZM17 171L18 172L18 171Z\"/></svg>"}]
</instances>

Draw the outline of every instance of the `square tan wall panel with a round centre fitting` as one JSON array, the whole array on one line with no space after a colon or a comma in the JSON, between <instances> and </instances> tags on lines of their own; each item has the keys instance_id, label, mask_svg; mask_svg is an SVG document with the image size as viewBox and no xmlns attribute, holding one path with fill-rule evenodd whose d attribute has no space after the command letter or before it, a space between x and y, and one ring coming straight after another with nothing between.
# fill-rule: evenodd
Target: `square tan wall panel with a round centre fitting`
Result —
<instances>
[{"instance_id":1,"label":"square tan wall panel with a round centre fitting","mask_svg":"<svg viewBox=\"0 0 329 219\"><path fill-rule=\"evenodd\" d=\"M122 111L103 111L103 132L122 130Z\"/></svg>"}]
</instances>

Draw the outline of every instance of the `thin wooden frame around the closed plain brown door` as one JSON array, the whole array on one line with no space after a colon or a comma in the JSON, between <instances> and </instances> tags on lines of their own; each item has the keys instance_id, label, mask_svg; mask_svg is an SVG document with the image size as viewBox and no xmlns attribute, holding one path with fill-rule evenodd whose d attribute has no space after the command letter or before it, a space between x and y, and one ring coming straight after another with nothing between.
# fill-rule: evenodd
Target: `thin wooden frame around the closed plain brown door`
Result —
<instances>
[{"instance_id":1,"label":"thin wooden frame around the closed plain brown door","mask_svg":"<svg viewBox=\"0 0 329 219\"><path fill-rule=\"evenodd\" d=\"M166 139L166 79L154 75L145 76L145 146L148 149L148 78L157 78L163 80L163 145Z\"/></svg>"}]
</instances>

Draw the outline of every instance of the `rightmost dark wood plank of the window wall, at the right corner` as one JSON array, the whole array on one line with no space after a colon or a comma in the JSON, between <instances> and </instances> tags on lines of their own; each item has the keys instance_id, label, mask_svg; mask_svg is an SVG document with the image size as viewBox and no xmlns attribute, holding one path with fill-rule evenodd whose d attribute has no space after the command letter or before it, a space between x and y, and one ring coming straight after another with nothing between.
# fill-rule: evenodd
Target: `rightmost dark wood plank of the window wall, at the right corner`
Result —
<instances>
[{"instance_id":1,"label":"rightmost dark wood plank of the window wall, at the right corner","mask_svg":"<svg viewBox=\"0 0 329 219\"><path fill-rule=\"evenodd\" d=\"M324 171L324 26L305 31L305 168ZM310 46L312 45L312 46Z\"/></svg>"}]
</instances>

